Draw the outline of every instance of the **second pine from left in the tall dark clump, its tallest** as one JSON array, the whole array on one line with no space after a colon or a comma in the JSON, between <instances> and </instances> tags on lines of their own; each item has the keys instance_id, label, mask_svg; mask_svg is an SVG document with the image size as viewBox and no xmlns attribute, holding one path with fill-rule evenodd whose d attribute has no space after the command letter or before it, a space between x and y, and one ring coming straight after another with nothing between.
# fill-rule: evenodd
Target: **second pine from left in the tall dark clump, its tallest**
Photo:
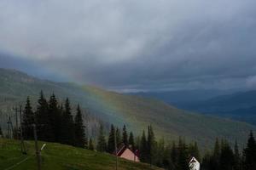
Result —
<instances>
[{"instance_id":1,"label":"second pine from left in the tall dark clump, its tallest","mask_svg":"<svg viewBox=\"0 0 256 170\"><path fill-rule=\"evenodd\" d=\"M50 124L49 106L41 90L36 111L36 122L38 124L38 139L49 141L53 139L54 133Z\"/></svg>"}]
</instances>

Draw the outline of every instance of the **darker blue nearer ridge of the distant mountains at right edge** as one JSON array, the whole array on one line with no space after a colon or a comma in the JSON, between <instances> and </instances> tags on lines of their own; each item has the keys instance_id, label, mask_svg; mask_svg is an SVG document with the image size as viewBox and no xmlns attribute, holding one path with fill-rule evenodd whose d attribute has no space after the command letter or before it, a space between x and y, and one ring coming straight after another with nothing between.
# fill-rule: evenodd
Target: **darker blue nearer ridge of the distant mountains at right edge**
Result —
<instances>
[{"instance_id":1,"label":"darker blue nearer ridge of the distant mountains at right edge","mask_svg":"<svg viewBox=\"0 0 256 170\"><path fill-rule=\"evenodd\" d=\"M221 95L205 101L179 105L189 111L229 117L256 125L256 91Z\"/></svg>"}]
</instances>

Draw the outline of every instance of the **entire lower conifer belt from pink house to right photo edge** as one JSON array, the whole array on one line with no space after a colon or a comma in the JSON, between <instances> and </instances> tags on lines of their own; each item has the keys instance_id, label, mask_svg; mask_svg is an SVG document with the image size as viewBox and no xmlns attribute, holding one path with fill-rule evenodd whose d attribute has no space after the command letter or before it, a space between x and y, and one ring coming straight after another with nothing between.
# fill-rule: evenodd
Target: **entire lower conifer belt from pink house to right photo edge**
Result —
<instances>
[{"instance_id":1,"label":"entire lower conifer belt from pink house to right photo edge","mask_svg":"<svg viewBox=\"0 0 256 170\"><path fill-rule=\"evenodd\" d=\"M128 135L125 125L122 132L119 127L111 125L108 138L105 137L103 126L101 126L96 150L113 154L115 135L118 147L125 144L133 151L139 150L140 161L165 169L189 170L189 161L192 156L201 162L201 170L256 169L256 142L253 132L249 134L246 148L241 151L237 142L231 147L227 140L216 139L213 149L201 157L197 143L186 143L182 137L177 142L172 141L172 144L165 143L164 139L156 141L152 126L148 126L147 133L143 131L141 136L134 137L132 132Z\"/></svg>"}]
</instances>

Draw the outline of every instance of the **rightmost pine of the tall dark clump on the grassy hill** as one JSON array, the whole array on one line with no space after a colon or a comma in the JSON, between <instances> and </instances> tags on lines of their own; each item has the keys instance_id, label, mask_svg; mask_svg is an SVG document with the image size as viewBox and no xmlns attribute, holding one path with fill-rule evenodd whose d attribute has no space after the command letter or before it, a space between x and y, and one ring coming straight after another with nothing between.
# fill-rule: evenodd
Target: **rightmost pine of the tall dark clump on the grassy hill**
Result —
<instances>
[{"instance_id":1,"label":"rightmost pine of the tall dark clump on the grassy hill","mask_svg":"<svg viewBox=\"0 0 256 170\"><path fill-rule=\"evenodd\" d=\"M69 122L72 124L72 122ZM75 137L75 146L84 148L84 145L87 145L87 139L86 139L86 134L84 132L84 122L83 122L83 117L82 113L80 110L80 106L78 105L77 108L77 114L75 116L75 121L74 121L74 137Z\"/></svg>"}]
</instances>

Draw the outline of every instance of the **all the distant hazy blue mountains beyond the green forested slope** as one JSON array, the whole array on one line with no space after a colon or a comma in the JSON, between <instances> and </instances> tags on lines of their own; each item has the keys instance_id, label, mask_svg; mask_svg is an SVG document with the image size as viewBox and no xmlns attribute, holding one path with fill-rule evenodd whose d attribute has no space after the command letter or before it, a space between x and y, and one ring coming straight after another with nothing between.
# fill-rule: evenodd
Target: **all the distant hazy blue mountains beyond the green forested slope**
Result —
<instances>
[{"instance_id":1,"label":"all the distant hazy blue mountains beyond the green forested slope","mask_svg":"<svg viewBox=\"0 0 256 170\"><path fill-rule=\"evenodd\" d=\"M240 89L241 90L241 89ZM133 95L161 99L178 108L202 114L227 117L256 125L256 91L187 90Z\"/></svg>"}]
</instances>

